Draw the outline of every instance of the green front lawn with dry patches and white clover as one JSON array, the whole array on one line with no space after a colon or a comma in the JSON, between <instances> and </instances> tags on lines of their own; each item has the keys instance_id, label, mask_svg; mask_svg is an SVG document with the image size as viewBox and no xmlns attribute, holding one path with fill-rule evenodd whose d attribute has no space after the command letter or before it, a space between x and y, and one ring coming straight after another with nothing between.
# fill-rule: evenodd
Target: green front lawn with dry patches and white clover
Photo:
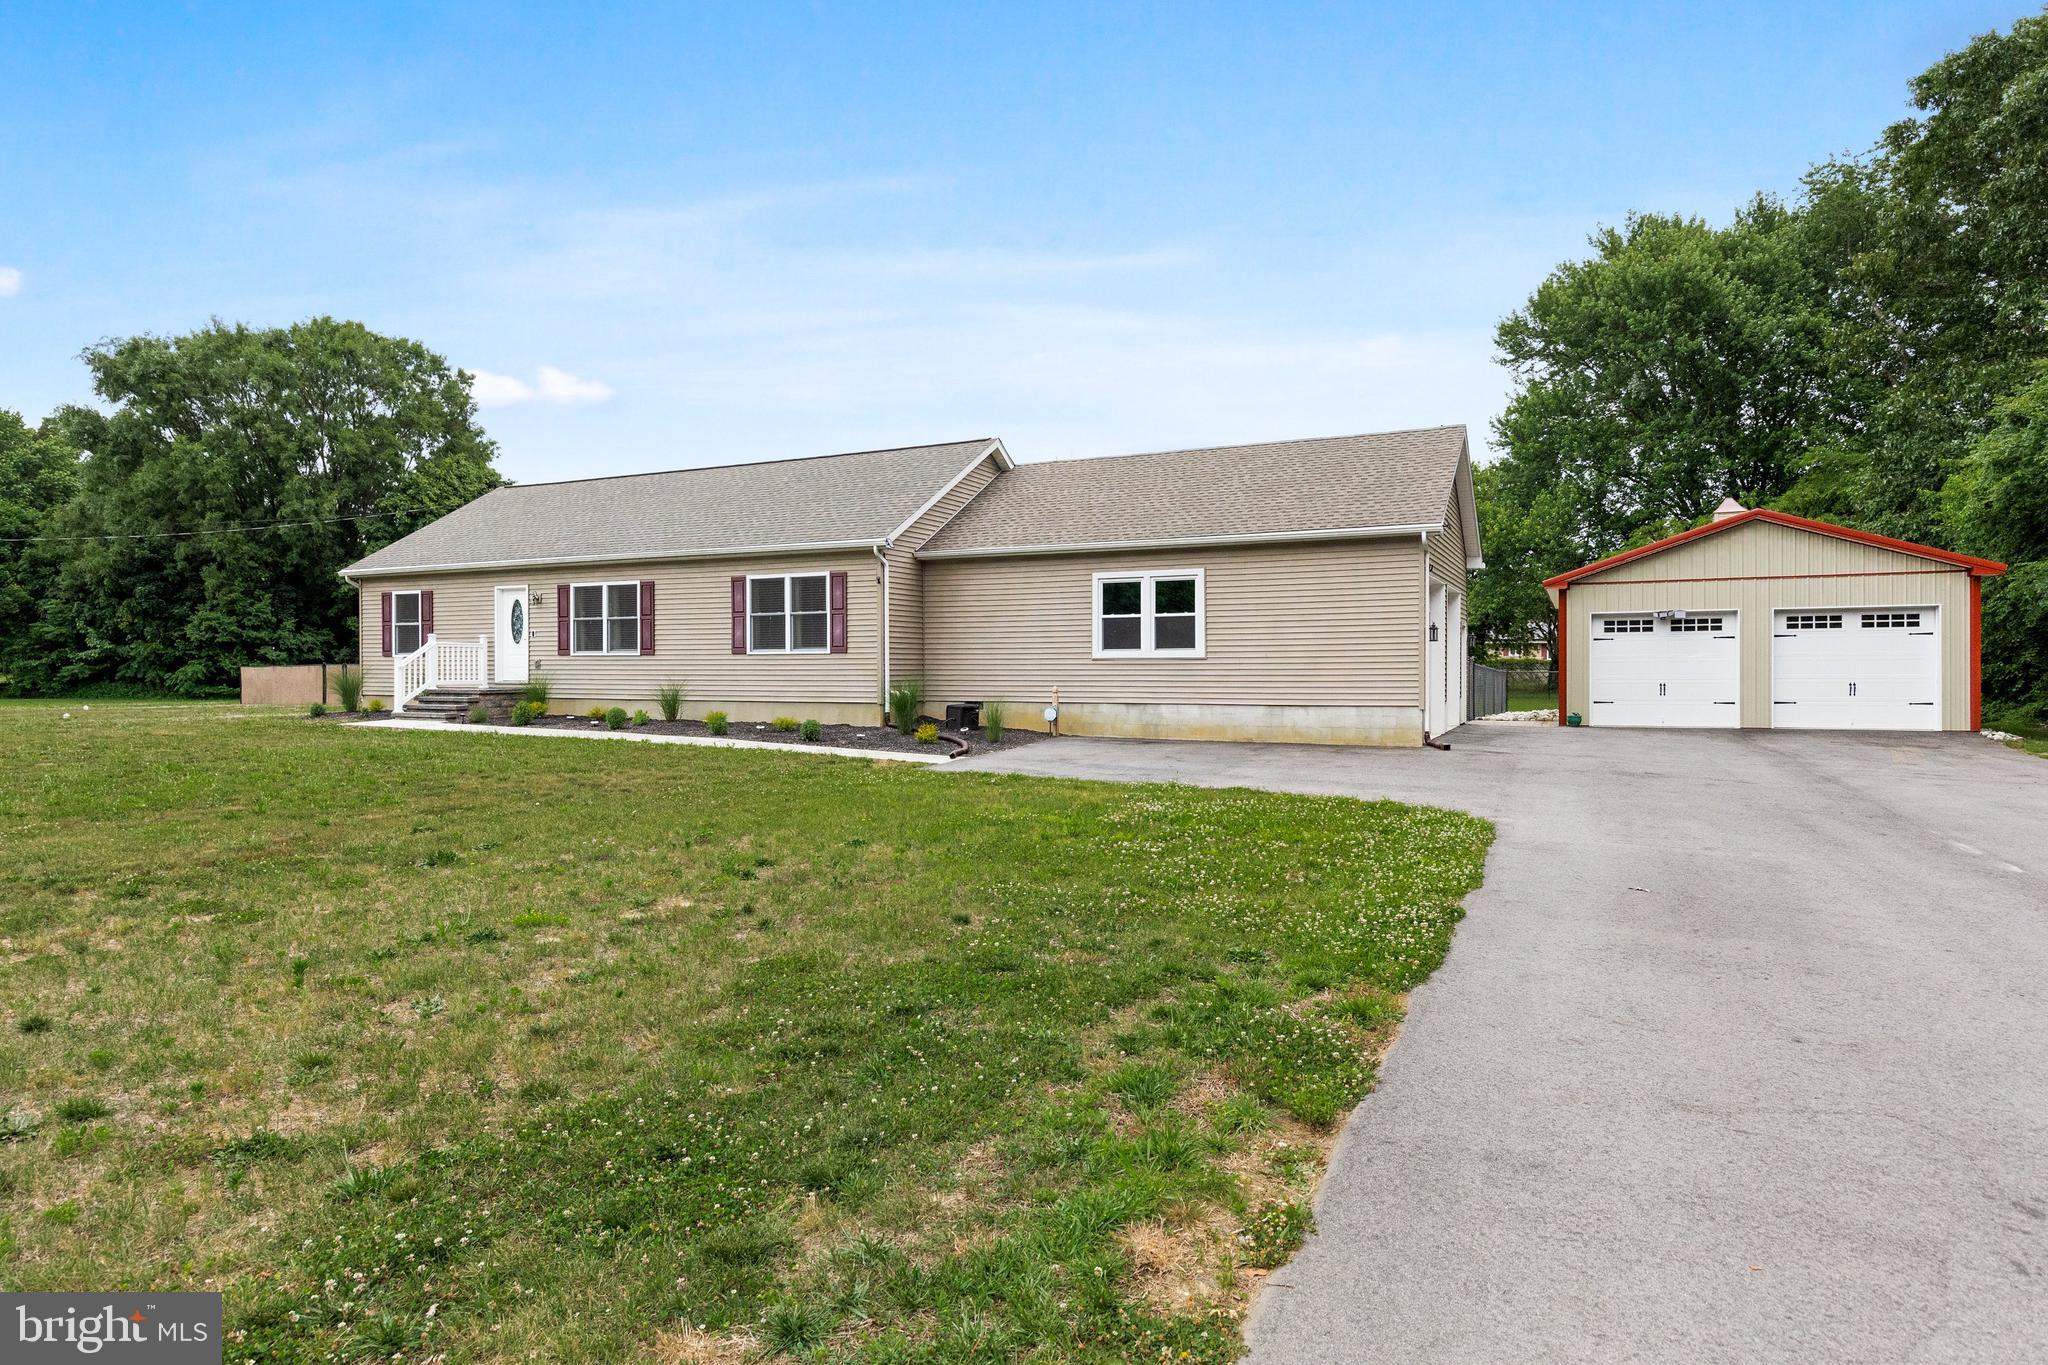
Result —
<instances>
[{"instance_id":1,"label":"green front lawn with dry patches and white clover","mask_svg":"<svg viewBox=\"0 0 2048 1365\"><path fill-rule=\"evenodd\" d=\"M0 1287L231 1361L1231 1359L1483 821L0 704Z\"/></svg>"}]
</instances>

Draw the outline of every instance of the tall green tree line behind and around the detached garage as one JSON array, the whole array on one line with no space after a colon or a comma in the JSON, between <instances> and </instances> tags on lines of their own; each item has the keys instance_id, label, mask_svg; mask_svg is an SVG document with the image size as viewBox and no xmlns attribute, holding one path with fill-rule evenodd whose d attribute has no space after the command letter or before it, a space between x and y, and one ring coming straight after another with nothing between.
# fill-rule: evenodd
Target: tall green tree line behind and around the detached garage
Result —
<instances>
[{"instance_id":1,"label":"tall green tree line behind and around the detached garage","mask_svg":"<svg viewBox=\"0 0 2048 1365\"><path fill-rule=\"evenodd\" d=\"M1634 215L1501 321L1475 641L1548 641L1544 577L1735 497L2007 561L1985 694L2048 708L2048 12L1911 96L1794 201Z\"/></svg>"}]
</instances>

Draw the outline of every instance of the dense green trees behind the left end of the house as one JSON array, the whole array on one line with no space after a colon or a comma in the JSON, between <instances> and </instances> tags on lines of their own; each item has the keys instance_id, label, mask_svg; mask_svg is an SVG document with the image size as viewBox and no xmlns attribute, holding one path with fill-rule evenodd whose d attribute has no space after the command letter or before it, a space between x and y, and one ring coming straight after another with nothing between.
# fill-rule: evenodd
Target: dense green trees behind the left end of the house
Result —
<instances>
[{"instance_id":1,"label":"dense green trees behind the left end of the house","mask_svg":"<svg viewBox=\"0 0 2048 1365\"><path fill-rule=\"evenodd\" d=\"M469 375L315 317L84 352L106 403L0 411L0 688L209 696L350 661L340 569L502 483Z\"/></svg>"}]
</instances>

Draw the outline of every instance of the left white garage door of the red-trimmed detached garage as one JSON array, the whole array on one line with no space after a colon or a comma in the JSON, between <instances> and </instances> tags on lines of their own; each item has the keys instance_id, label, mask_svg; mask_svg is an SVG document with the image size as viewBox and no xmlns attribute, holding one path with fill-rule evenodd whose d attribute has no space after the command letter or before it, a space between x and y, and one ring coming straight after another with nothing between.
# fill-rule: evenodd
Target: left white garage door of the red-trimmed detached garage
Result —
<instances>
[{"instance_id":1,"label":"left white garage door of the red-trimmed detached garage","mask_svg":"<svg viewBox=\"0 0 2048 1365\"><path fill-rule=\"evenodd\" d=\"M1735 612L1595 616L1589 653L1591 724L1741 724Z\"/></svg>"}]
</instances>

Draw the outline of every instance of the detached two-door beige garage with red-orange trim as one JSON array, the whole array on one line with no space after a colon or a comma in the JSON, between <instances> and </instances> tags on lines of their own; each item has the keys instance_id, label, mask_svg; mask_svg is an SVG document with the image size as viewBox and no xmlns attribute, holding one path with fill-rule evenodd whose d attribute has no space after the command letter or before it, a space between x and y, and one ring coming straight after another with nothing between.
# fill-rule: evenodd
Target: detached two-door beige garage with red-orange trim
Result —
<instances>
[{"instance_id":1,"label":"detached two-door beige garage with red-orange trim","mask_svg":"<svg viewBox=\"0 0 2048 1365\"><path fill-rule=\"evenodd\" d=\"M1724 501L1546 579L1559 722L1974 731L1978 589L2005 565Z\"/></svg>"}]
</instances>

